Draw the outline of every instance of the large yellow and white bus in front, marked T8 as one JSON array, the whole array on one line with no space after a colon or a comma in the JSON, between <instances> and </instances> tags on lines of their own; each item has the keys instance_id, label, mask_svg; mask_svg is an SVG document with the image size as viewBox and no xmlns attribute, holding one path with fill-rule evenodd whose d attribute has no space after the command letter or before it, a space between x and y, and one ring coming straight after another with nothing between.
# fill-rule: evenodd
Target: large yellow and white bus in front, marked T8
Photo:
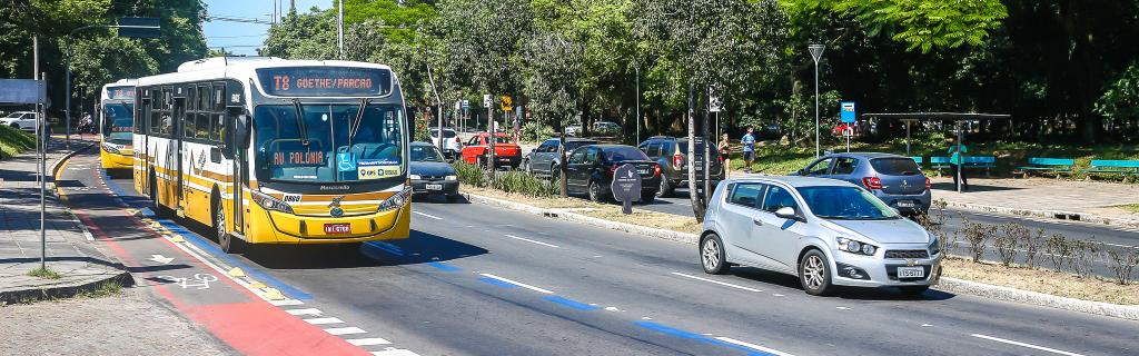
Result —
<instances>
[{"instance_id":1,"label":"large yellow and white bus in front, marked T8","mask_svg":"<svg viewBox=\"0 0 1139 356\"><path fill-rule=\"evenodd\" d=\"M137 103L134 188L227 252L408 237L410 131L388 66L207 58L140 78Z\"/></svg>"}]
</instances>

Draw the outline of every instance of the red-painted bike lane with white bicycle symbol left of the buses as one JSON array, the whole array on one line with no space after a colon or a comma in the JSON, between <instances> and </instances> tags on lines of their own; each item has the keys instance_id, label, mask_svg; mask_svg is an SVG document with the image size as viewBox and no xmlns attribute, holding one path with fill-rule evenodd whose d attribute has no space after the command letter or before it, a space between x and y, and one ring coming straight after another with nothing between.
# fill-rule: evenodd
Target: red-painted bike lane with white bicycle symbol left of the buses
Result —
<instances>
[{"instance_id":1,"label":"red-painted bike lane with white bicycle symbol left of the buses","mask_svg":"<svg viewBox=\"0 0 1139 356\"><path fill-rule=\"evenodd\" d=\"M279 292L274 298L277 290L251 280L244 270L224 267L172 232L169 221L139 217L104 181L97 155L80 154L65 162L56 181L60 199L131 272L136 288L161 296L238 353L369 354L278 308L269 301L285 299Z\"/></svg>"}]
</instances>

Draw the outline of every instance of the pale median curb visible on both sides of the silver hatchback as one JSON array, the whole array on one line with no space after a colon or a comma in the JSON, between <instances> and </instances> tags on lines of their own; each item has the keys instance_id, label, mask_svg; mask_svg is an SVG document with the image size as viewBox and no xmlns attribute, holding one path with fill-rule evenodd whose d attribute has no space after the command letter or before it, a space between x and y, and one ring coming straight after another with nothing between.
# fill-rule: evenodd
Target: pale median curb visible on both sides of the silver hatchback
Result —
<instances>
[{"instance_id":1,"label":"pale median curb visible on both sides of the silver hatchback","mask_svg":"<svg viewBox=\"0 0 1139 356\"><path fill-rule=\"evenodd\" d=\"M644 236L652 236L669 241L682 242L694 245L697 243L697 241L699 241L699 236L695 234L685 234L673 230L644 227L633 224L611 221L611 220L583 216L580 213L573 213L564 210L538 208L523 203L505 201L489 196L482 196L477 194L462 193L462 195L466 196L467 201L472 203L505 208L526 213L543 216L552 219L559 219L573 222L584 222L597 227L604 227L604 228L609 228ZM1071 312L1139 321L1139 306L1124 306L1124 305L1114 305L1099 301L1080 300L1067 297L1057 297L1057 296L1018 290L1007 286L964 281L952 277L941 277L935 289L959 294L977 296L994 300L1005 300L1005 301L1021 302L1021 304L1064 309Z\"/></svg>"}]
</instances>

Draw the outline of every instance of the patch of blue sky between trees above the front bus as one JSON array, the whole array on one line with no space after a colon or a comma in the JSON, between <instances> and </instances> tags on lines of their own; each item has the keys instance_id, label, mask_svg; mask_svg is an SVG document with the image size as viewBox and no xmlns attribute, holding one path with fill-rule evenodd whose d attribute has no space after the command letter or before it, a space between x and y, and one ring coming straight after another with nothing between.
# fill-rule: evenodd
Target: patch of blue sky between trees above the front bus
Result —
<instances>
[{"instance_id":1,"label":"patch of blue sky between trees above the front bus","mask_svg":"<svg viewBox=\"0 0 1139 356\"><path fill-rule=\"evenodd\" d=\"M205 0L210 16L243 17L270 21L274 0ZM289 0L276 0L288 11ZM330 8L335 0L296 0L298 13L306 13L313 6ZM211 21L203 26L206 47L224 47L235 55L256 56L257 47L265 42L269 25L237 22Z\"/></svg>"}]
</instances>

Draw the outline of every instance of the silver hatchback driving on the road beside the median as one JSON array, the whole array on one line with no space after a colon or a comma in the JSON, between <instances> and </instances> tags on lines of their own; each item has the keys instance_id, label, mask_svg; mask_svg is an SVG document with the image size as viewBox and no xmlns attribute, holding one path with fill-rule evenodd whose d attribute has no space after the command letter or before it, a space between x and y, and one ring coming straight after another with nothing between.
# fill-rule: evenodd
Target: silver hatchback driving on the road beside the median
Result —
<instances>
[{"instance_id":1,"label":"silver hatchback driving on the road beside the median","mask_svg":"<svg viewBox=\"0 0 1139 356\"><path fill-rule=\"evenodd\" d=\"M704 272L746 265L796 275L803 289L895 286L921 294L941 275L936 237L857 185L745 176L721 183L700 234Z\"/></svg>"}]
</instances>

